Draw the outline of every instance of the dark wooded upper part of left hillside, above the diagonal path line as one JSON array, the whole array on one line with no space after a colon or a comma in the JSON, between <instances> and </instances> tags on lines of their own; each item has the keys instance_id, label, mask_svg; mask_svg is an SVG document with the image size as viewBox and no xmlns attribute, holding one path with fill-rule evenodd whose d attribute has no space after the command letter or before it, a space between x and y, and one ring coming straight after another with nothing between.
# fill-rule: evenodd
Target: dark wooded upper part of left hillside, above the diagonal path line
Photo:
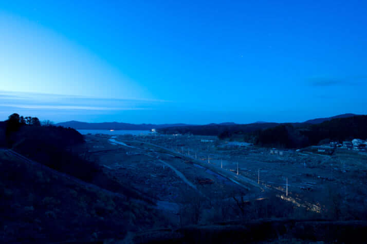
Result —
<instances>
[{"instance_id":1,"label":"dark wooded upper part of left hillside, above the diagonal path line","mask_svg":"<svg viewBox=\"0 0 367 244\"><path fill-rule=\"evenodd\" d=\"M135 189L108 177L96 161L86 158L87 149L82 146L84 138L75 129L17 124L7 120L5 137L8 148L51 169L113 192L146 199Z\"/></svg>"}]
</instances>

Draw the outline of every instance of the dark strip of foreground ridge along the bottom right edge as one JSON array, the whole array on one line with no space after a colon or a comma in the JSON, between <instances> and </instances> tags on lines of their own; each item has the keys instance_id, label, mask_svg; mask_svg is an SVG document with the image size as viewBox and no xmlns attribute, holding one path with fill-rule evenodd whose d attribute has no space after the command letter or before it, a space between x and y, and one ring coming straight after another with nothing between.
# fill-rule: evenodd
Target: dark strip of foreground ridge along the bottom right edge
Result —
<instances>
[{"instance_id":1,"label":"dark strip of foreground ridge along the bottom right edge","mask_svg":"<svg viewBox=\"0 0 367 244\"><path fill-rule=\"evenodd\" d=\"M135 243L365 243L366 231L367 221L261 219L137 232L131 239Z\"/></svg>"}]
</instances>

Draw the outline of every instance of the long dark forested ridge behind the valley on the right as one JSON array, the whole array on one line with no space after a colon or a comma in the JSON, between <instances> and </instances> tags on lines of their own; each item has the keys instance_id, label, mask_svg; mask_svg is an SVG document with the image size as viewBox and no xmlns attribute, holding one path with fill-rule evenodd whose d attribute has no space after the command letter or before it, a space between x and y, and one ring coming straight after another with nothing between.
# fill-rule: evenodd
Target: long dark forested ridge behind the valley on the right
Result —
<instances>
[{"instance_id":1,"label":"long dark forested ridge behind the valley on the right","mask_svg":"<svg viewBox=\"0 0 367 244\"><path fill-rule=\"evenodd\" d=\"M163 134L212 135L219 139L248 141L263 147L303 148L318 145L321 140L343 140L367 138L367 115L344 114L336 118L322 118L308 123L253 123L246 125L182 126L162 128Z\"/></svg>"}]
</instances>

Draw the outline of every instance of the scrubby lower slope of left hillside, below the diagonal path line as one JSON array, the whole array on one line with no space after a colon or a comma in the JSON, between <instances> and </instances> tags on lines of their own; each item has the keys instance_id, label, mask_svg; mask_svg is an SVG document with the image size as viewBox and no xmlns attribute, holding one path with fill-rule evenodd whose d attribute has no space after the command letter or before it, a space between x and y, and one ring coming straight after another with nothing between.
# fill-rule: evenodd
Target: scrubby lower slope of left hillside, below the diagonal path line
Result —
<instances>
[{"instance_id":1,"label":"scrubby lower slope of left hillside, below the diagonal path line","mask_svg":"<svg viewBox=\"0 0 367 244\"><path fill-rule=\"evenodd\" d=\"M159 220L149 204L47 169L0 151L1 243L102 243Z\"/></svg>"}]
</instances>

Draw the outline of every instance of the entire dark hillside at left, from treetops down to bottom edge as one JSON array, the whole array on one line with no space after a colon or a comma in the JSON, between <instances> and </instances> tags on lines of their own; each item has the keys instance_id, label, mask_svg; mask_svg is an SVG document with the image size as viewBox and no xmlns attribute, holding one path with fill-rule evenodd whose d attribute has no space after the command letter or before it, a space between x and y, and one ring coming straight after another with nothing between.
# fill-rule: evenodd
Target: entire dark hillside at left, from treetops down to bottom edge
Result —
<instances>
[{"instance_id":1,"label":"entire dark hillside at left, from treetops down to bottom edge","mask_svg":"<svg viewBox=\"0 0 367 244\"><path fill-rule=\"evenodd\" d=\"M154 200L84 157L78 131L22 118L0 123L0 242L101 243L164 221Z\"/></svg>"}]
</instances>

